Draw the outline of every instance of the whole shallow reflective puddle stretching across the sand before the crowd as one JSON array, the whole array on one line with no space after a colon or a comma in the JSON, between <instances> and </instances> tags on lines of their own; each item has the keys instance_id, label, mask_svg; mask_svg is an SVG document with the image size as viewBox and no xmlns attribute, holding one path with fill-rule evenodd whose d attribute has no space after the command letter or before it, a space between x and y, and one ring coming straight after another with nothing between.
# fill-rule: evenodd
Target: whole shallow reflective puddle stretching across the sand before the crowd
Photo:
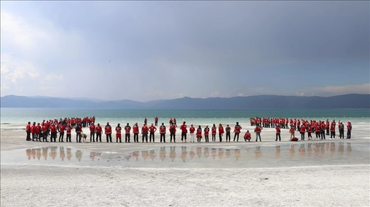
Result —
<instances>
[{"instance_id":1,"label":"whole shallow reflective puddle stretching across the sand before the crowd","mask_svg":"<svg viewBox=\"0 0 370 207\"><path fill-rule=\"evenodd\" d=\"M1 164L252 168L369 164L369 143L293 143L249 148L160 147L127 154L62 146L1 151Z\"/></svg>"}]
</instances>

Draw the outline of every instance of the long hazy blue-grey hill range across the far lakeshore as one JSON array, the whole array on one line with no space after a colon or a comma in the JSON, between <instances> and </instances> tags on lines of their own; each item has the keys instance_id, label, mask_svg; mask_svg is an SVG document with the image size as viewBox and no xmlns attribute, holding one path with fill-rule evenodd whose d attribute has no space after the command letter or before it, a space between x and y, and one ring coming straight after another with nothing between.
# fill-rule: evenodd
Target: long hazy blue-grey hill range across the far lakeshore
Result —
<instances>
[{"instance_id":1,"label":"long hazy blue-grey hill range across the far lakeshore","mask_svg":"<svg viewBox=\"0 0 370 207\"><path fill-rule=\"evenodd\" d=\"M254 95L231 98L176 98L147 102L94 100L45 96L0 97L2 108L97 108L97 109L370 109L370 94L330 97Z\"/></svg>"}]
</instances>

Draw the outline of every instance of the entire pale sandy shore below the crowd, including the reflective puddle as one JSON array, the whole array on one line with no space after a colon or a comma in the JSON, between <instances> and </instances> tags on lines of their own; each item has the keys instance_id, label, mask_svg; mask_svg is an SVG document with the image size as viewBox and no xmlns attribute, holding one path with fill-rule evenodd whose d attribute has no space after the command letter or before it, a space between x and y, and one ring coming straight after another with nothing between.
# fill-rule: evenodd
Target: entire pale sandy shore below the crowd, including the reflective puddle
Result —
<instances>
[{"instance_id":1,"label":"entire pale sandy shore below the crowd, including the reflective puddle","mask_svg":"<svg viewBox=\"0 0 370 207\"><path fill-rule=\"evenodd\" d=\"M370 205L367 129L351 140L275 142L263 129L261 143L178 133L176 144L126 144L26 142L19 127L0 131L2 206Z\"/></svg>"}]
</instances>

